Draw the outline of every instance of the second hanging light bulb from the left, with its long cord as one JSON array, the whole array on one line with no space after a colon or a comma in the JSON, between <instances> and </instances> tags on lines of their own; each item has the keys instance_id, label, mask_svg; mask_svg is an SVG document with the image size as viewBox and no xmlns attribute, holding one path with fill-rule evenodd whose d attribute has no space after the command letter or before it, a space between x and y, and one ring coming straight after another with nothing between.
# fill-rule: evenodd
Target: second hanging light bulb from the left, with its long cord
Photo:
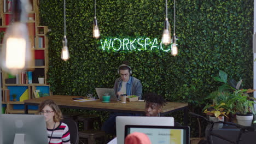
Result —
<instances>
[{"instance_id":1,"label":"second hanging light bulb from the left, with its long cord","mask_svg":"<svg viewBox=\"0 0 256 144\"><path fill-rule=\"evenodd\" d=\"M62 50L61 50L61 59L67 61L69 59L69 52L67 47L67 37L66 37L66 0L64 0L64 37L62 40Z\"/></svg>"}]
</instances>

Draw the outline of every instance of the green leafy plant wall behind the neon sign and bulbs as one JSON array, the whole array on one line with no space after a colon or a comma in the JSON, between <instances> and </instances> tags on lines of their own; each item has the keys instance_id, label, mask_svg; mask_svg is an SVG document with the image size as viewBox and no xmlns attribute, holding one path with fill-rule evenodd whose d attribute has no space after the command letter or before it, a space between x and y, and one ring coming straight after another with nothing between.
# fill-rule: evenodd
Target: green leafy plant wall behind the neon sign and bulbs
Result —
<instances>
[{"instance_id":1,"label":"green leafy plant wall behind the neon sign and bulbs","mask_svg":"<svg viewBox=\"0 0 256 144\"><path fill-rule=\"evenodd\" d=\"M97 1L101 38L94 39L94 1L66 0L71 57L67 62L61 60L63 1L40 1L39 7L40 25L51 29L48 82L54 94L96 95L95 87L113 87L123 61L129 61L133 76L141 80L143 93L156 92L169 101L189 102L192 110L202 107L202 99L219 86L213 81L219 70L243 79L244 87L253 87L253 0L176 1L176 57L163 51L100 49L100 39L108 37L160 40L165 1ZM173 1L168 1L168 19L173 33Z\"/></svg>"}]
</instances>

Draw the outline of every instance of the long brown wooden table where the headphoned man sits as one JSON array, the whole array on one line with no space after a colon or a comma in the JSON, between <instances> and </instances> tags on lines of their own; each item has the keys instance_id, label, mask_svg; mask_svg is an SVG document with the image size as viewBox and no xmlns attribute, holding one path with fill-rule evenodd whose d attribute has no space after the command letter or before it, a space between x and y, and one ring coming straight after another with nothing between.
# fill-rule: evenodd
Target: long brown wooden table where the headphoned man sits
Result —
<instances>
[{"instance_id":1,"label":"long brown wooden table where the headphoned man sits","mask_svg":"<svg viewBox=\"0 0 256 144\"><path fill-rule=\"evenodd\" d=\"M78 96L68 95L51 95L48 97L42 97L37 99L24 100L24 112L28 113L28 105L39 105L42 101L50 99L55 101L59 107L69 109L86 109L86 110L99 110L99 111L111 111L111 112L127 112L127 113L142 113L144 114L144 101L126 102L125 104L120 101L110 101L110 103L102 103L100 100L78 102L72 100ZM160 113L161 116L166 115L174 111L184 111L184 125L188 125L188 103L174 103L168 102Z\"/></svg>"}]
</instances>

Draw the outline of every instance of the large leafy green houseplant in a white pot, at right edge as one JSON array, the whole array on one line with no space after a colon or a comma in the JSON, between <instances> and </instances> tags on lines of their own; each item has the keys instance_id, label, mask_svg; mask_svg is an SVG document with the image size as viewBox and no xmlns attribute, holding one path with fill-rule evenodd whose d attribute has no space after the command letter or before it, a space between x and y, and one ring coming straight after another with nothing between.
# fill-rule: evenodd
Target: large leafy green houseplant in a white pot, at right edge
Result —
<instances>
[{"instance_id":1,"label":"large leafy green houseplant in a white pot, at right edge","mask_svg":"<svg viewBox=\"0 0 256 144\"><path fill-rule=\"evenodd\" d=\"M206 99L212 99L213 103L225 103L223 108L228 110L228 112L236 113L236 115L239 116L249 115L252 120L254 101L248 93L255 90L241 89L242 80L238 82L236 82L234 79L228 80L228 74L222 70L219 71L219 76L214 77L214 80L217 82L223 82L223 85L218 87L218 90L212 92ZM238 123L240 123L239 120Z\"/></svg>"}]
</instances>

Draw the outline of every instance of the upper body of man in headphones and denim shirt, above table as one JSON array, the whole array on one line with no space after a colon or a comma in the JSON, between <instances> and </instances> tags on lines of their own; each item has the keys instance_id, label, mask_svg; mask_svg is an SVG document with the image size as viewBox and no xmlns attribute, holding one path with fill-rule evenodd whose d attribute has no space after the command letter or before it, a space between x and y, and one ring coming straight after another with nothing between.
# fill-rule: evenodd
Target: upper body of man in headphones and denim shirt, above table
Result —
<instances>
[{"instance_id":1,"label":"upper body of man in headphones and denim shirt, above table","mask_svg":"<svg viewBox=\"0 0 256 144\"><path fill-rule=\"evenodd\" d=\"M122 64L118 67L118 74L120 77L115 80L114 91L117 96L121 94L137 95L141 99L142 86L141 81L132 75L132 70L129 65Z\"/></svg>"}]
</instances>

